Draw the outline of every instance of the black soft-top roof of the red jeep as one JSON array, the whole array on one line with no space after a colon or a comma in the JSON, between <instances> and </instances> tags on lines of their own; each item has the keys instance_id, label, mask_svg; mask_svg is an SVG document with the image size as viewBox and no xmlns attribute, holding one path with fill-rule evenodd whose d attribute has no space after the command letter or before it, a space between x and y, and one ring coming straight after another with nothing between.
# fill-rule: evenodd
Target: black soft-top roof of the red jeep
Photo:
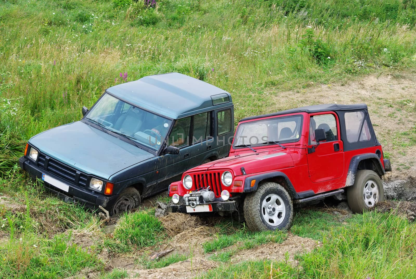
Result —
<instances>
[{"instance_id":1,"label":"black soft-top roof of the red jeep","mask_svg":"<svg viewBox=\"0 0 416 279\"><path fill-rule=\"evenodd\" d=\"M300 107L300 108L292 108L286 111L263 114L260 116L250 116L250 117L243 118L240 121L258 119L258 118L263 118L267 116L279 116L279 115L290 114L290 113L301 113L301 112L315 113L315 112L321 112L321 111L353 111L353 110L363 110L363 109L364 110L367 109L366 104L354 104L354 105L324 104L324 105L314 105L314 106L306 106L306 107Z\"/></svg>"}]
</instances>

